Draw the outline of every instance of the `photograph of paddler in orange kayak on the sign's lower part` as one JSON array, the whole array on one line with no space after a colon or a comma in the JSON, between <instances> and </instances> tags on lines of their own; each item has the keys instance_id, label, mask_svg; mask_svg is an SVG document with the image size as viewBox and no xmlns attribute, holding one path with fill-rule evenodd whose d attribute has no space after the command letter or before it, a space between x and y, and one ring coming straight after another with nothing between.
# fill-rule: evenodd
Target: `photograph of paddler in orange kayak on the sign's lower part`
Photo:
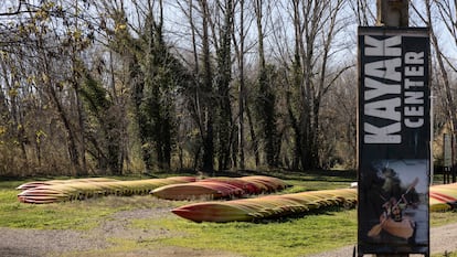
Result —
<instances>
[{"instance_id":1,"label":"photograph of paddler in orange kayak on the sign's lower part","mask_svg":"<svg viewBox=\"0 0 457 257\"><path fill-rule=\"evenodd\" d=\"M427 167L428 160L379 160L364 172L371 183L365 186L368 201L361 202L361 207L372 216L371 224L364 227L365 240L427 243L428 176L417 173Z\"/></svg>"}]
</instances>

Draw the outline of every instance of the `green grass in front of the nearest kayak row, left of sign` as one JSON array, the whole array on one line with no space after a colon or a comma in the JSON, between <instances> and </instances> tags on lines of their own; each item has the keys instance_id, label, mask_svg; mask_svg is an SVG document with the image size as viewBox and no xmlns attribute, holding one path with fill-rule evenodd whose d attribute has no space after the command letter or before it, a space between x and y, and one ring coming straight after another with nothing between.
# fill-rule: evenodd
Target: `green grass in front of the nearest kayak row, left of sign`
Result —
<instances>
[{"instance_id":1,"label":"green grass in front of the nearest kayak row, left of sign","mask_svg":"<svg viewBox=\"0 0 457 257\"><path fill-rule=\"evenodd\" d=\"M300 256L354 244L357 212L330 211L262 223L192 223L178 217L138 219L137 228L166 227L180 236L161 239L162 245L237 253L244 256Z\"/></svg>"}]
</instances>

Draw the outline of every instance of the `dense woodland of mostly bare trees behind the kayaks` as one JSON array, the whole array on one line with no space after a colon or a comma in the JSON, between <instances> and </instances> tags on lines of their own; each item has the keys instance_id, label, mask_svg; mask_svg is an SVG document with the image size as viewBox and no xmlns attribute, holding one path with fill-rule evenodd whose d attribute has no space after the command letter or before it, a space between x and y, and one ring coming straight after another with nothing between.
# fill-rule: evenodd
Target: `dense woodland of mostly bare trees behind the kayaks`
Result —
<instances>
[{"instance_id":1,"label":"dense woodland of mostly bare trees behind the kayaks","mask_svg":"<svg viewBox=\"0 0 457 257\"><path fill-rule=\"evenodd\" d=\"M1 1L0 175L354 168L357 28L375 15L374 0ZM410 15L432 28L435 136L456 131L456 2Z\"/></svg>"}]
</instances>

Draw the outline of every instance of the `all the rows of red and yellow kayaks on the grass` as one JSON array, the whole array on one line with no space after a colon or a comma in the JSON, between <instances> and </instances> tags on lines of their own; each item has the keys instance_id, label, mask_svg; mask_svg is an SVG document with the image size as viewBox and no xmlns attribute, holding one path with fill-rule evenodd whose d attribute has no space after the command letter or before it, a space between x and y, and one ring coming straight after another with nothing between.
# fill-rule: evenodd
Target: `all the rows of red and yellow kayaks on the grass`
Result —
<instances>
[{"instance_id":1,"label":"all the rows of red and yellow kayaks on the grass","mask_svg":"<svg viewBox=\"0 0 457 257\"><path fill-rule=\"evenodd\" d=\"M196 203L172 210L174 214L194 222L252 221L301 214L325 206L357 204L357 189L270 194L287 186L280 179L264 175L203 180L171 176L135 181L94 178L29 182L18 186L22 190L18 199L23 203L55 203L100 195L152 194L166 200L196 200ZM253 197L258 194L262 196ZM224 201L214 201L221 199ZM429 188L432 212L455 207L457 183Z\"/></svg>"}]
</instances>

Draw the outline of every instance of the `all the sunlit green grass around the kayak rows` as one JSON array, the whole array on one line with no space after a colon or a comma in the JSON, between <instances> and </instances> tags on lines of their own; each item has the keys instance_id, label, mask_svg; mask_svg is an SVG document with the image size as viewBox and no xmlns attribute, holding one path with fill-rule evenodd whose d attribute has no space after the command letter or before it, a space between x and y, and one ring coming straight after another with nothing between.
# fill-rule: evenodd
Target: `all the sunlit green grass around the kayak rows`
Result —
<instances>
[{"instance_id":1,"label":"all the sunlit green grass around the kayak rows","mask_svg":"<svg viewBox=\"0 0 457 257\"><path fill-rule=\"evenodd\" d=\"M273 174L275 175L275 174ZM290 183L286 193L348 188L354 174L331 172L317 174L279 174ZM22 204L17 201L14 190L24 181L0 182L0 227L39 229L96 228L110 215L137 208L173 208L183 202L157 201L151 196L100 197L46 205ZM455 212L432 213L432 226L457 223ZM192 223L169 213L164 216L132 218L132 229L167 231L169 235L153 240L134 240L109 237L115 246L110 253L128 253L138 249L177 246L192 249L213 249L236 253L243 256L306 256L357 244L357 211L332 207L299 217L258 223ZM97 255L97 254L95 254ZM437 255L443 256L443 255ZM436 257L437 257L436 256ZM457 255L449 255L457 256Z\"/></svg>"}]
</instances>

